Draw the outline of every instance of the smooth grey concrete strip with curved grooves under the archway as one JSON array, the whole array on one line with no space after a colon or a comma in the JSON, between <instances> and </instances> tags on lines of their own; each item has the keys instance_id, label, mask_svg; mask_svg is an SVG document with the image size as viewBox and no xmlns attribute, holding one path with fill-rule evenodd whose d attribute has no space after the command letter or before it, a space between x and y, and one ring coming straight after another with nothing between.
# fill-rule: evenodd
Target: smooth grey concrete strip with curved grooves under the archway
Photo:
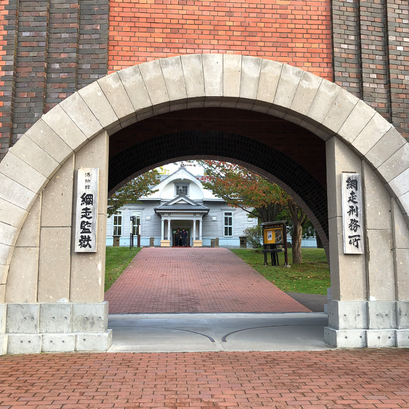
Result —
<instances>
[{"instance_id":1,"label":"smooth grey concrete strip with curved grooves under the archway","mask_svg":"<svg viewBox=\"0 0 409 409\"><path fill-rule=\"evenodd\" d=\"M327 325L319 312L110 314L109 352L326 350Z\"/></svg>"}]
</instances>

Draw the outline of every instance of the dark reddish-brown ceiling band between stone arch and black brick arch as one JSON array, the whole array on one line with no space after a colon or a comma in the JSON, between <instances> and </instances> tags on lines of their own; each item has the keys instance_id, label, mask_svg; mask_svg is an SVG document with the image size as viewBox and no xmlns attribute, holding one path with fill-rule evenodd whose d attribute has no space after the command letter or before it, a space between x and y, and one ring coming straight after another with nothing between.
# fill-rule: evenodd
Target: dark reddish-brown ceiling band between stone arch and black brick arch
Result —
<instances>
[{"instance_id":1,"label":"dark reddish-brown ceiling band between stone arch and black brick arch","mask_svg":"<svg viewBox=\"0 0 409 409\"><path fill-rule=\"evenodd\" d=\"M150 138L192 129L236 133L262 142L289 156L326 187L326 154L322 139L299 125L243 109L195 108L145 119L111 135L109 156Z\"/></svg>"}]
</instances>

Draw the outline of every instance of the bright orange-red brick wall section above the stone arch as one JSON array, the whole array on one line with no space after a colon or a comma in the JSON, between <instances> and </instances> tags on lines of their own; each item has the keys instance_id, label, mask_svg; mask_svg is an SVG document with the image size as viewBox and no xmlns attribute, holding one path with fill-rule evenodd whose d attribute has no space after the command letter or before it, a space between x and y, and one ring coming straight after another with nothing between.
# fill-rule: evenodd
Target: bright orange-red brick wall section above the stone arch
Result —
<instances>
[{"instance_id":1,"label":"bright orange-red brick wall section above the stone arch","mask_svg":"<svg viewBox=\"0 0 409 409\"><path fill-rule=\"evenodd\" d=\"M155 58L231 53L332 81L329 0L110 0L108 70Z\"/></svg>"}]
</instances>

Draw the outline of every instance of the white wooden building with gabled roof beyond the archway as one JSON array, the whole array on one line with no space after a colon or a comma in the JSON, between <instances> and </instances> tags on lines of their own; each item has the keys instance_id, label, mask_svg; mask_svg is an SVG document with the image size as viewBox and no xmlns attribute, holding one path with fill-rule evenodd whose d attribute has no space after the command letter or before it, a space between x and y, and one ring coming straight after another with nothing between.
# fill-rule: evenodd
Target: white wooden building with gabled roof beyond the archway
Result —
<instances>
[{"instance_id":1,"label":"white wooden building with gabled roof beyond the archway","mask_svg":"<svg viewBox=\"0 0 409 409\"><path fill-rule=\"evenodd\" d=\"M155 246L173 246L176 229L184 228L188 245L210 246L211 239L218 238L220 247L239 247L243 230L257 225L256 218L248 218L247 212L226 205L204 189L198 176L185 167L163 178L152 190L158 191L142 197L140 205L126 205L108 218L107 246L113 244L113 236L120 237L120 246L129 246L131 216L137 219L141 246L149 245L151 237ZM134 235L137 230L135 225Z\"/></svg>"}]
</instances>

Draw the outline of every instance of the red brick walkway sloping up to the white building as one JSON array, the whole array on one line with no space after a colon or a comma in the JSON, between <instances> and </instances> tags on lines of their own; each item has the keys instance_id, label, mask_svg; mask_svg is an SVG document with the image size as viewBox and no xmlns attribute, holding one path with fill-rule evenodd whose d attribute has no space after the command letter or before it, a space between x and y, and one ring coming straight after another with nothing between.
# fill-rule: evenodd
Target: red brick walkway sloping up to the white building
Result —
<instances>
[{"instance_id":1,"label":"red brick walkway sloping up to the white building","mask_svg":"<svg viewBox=\"0 0 409 409\"><path fill-rule=\"evenodd\" d=\"M105 300L110 313L309 311L226 248L143 248Z\"/></svg>"}]
</instances>

